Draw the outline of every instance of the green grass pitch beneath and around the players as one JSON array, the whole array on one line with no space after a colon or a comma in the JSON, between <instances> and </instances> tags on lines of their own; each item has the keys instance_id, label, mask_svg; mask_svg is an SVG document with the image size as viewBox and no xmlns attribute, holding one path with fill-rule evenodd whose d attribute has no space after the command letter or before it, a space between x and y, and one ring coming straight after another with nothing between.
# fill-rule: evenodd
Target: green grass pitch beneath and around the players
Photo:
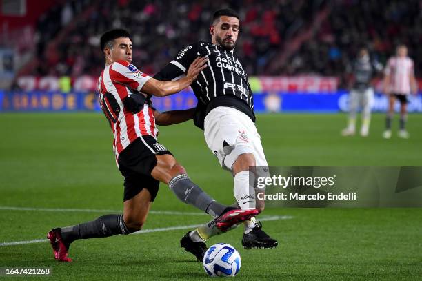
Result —
<instances>
[{"instance_id":1,"label":"green grass pitch beneath and around the players","mask_svg":"<svg viewBox=\"0 0 422 281\"><path fill-rule=\"evenodd\" d=\"M259 115L257 127L271 166L422 166L422 115L409 116L410 139L399 139L395 131L392 139L382 139L384 115L374 115L369 137L341 137L345 121L345 115ZM43 239L52 227L122 209L122 177L103 115L3 113L0 124L0 243ZM192 122L160 130L159 141L192 180L231 204L232 177L219 168L202 132ZM54 208L94 211L48 210ZM208 280L202 265L179 247L185 226L208 217L192 214L197 211L165 185L152 210L157 212L144 229L153 232L79 240L70 248L72 264L56 262L50 245L39 242L0 246L0 267L50 267L52 280ZM243 227L208 242L239 250L237 279L422 278L422 209L267 209L261 217L274 215L291 217L263 222L279 240L277 249L242 249Z\"/></svg>"}]
</instances>

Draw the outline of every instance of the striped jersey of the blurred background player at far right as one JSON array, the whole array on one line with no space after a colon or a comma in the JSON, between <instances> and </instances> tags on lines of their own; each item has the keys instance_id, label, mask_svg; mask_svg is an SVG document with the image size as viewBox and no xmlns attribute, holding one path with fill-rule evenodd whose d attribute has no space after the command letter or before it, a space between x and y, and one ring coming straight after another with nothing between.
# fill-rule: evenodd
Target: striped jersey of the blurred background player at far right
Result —
<instances>
[{"instance_id":1,"label":"striped jersey of the blurred background player at far right","mask_svg":"<svg viewBox=\"0 0 422 281\"><path fill-rule=\"evenodd\" d=\"M390 57L385 75L390 75L390 93L410 94L410 77L414 75L413 60L410 57Z\"/></svg>"}]
</instances>

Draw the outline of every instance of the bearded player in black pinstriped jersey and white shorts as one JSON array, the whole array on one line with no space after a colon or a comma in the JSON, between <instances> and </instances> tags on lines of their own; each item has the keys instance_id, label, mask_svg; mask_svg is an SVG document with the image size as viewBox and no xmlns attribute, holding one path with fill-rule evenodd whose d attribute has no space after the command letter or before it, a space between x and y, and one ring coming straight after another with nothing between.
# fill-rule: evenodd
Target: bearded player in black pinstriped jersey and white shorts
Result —
<instances>
[{"instance_id":1,"label":"bearded player in black pinstriped jersey and white shorts","mask_svg":"<svg viewBox=\"0 0 422 281\"><path fill-rule=\"evenodd\" d=\"M263 210L263 202L256 204L255 191L250 186L250 167L268 166L255 127L254 100L248 75L234 47L239 34L239 15L230 9L214 13L210 34L212 43L198 42L188 45L154 78L172 80L185 74L189 64L199 55L208 57L208 68L191 84L197 96L197 113L194 122L204 130L208 148L217 156L222 168L234 176L236 206L243 210ZM253 185L253 179L251 180ZM219 234L214 222L189 231L181 239L181 246L202 260L205 241ZM261 224L254 220L245 222L242 245L250 248L272 248L277 241L270 238Z\"/></svg>"}]
</instances>

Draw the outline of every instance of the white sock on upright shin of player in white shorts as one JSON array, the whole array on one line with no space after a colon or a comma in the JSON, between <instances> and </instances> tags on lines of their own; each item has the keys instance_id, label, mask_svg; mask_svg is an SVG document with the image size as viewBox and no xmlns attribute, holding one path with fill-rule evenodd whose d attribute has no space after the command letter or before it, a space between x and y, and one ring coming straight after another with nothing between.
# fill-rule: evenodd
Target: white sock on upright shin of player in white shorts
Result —
<instances>
[{"instance_id":1,"label":"white sock on upright shin of player in white shorts","mask_svg":"<svg viewBox=\"0 0 422 281\"><path fill-rule=\"evenodd\" d=\"M240 209L249 210L255 209L255 190L253 186L249 185L249 171L241 171L234 175L234 198ZM251 182L253 185L254 175L251 175Z\"/></svg>"}]
</instances>

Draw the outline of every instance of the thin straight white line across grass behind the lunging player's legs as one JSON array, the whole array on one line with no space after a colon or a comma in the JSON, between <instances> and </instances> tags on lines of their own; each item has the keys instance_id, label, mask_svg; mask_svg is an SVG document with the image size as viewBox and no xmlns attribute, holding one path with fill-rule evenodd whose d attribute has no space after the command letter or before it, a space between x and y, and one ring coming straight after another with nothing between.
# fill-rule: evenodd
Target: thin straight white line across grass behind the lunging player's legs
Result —
<instances>
[{"instance_id":1,"label":"thin straight white line across grass behind the lunging player's legs","mask_svg":"<svg viewBox=\"0 0 422 281\"><path fill-rule=\"evenodd\" d=\"M27 208L27 207L12 207L0 206L0 210L9 211L46 211L46 212L81 212L81 213L121 213L122 210L101 210L101 209L68 209L68 208ZM206 213L198 212L179 212L179 211L149 211L154 215L208 215Z\"/></svg>"}]
</instances>

